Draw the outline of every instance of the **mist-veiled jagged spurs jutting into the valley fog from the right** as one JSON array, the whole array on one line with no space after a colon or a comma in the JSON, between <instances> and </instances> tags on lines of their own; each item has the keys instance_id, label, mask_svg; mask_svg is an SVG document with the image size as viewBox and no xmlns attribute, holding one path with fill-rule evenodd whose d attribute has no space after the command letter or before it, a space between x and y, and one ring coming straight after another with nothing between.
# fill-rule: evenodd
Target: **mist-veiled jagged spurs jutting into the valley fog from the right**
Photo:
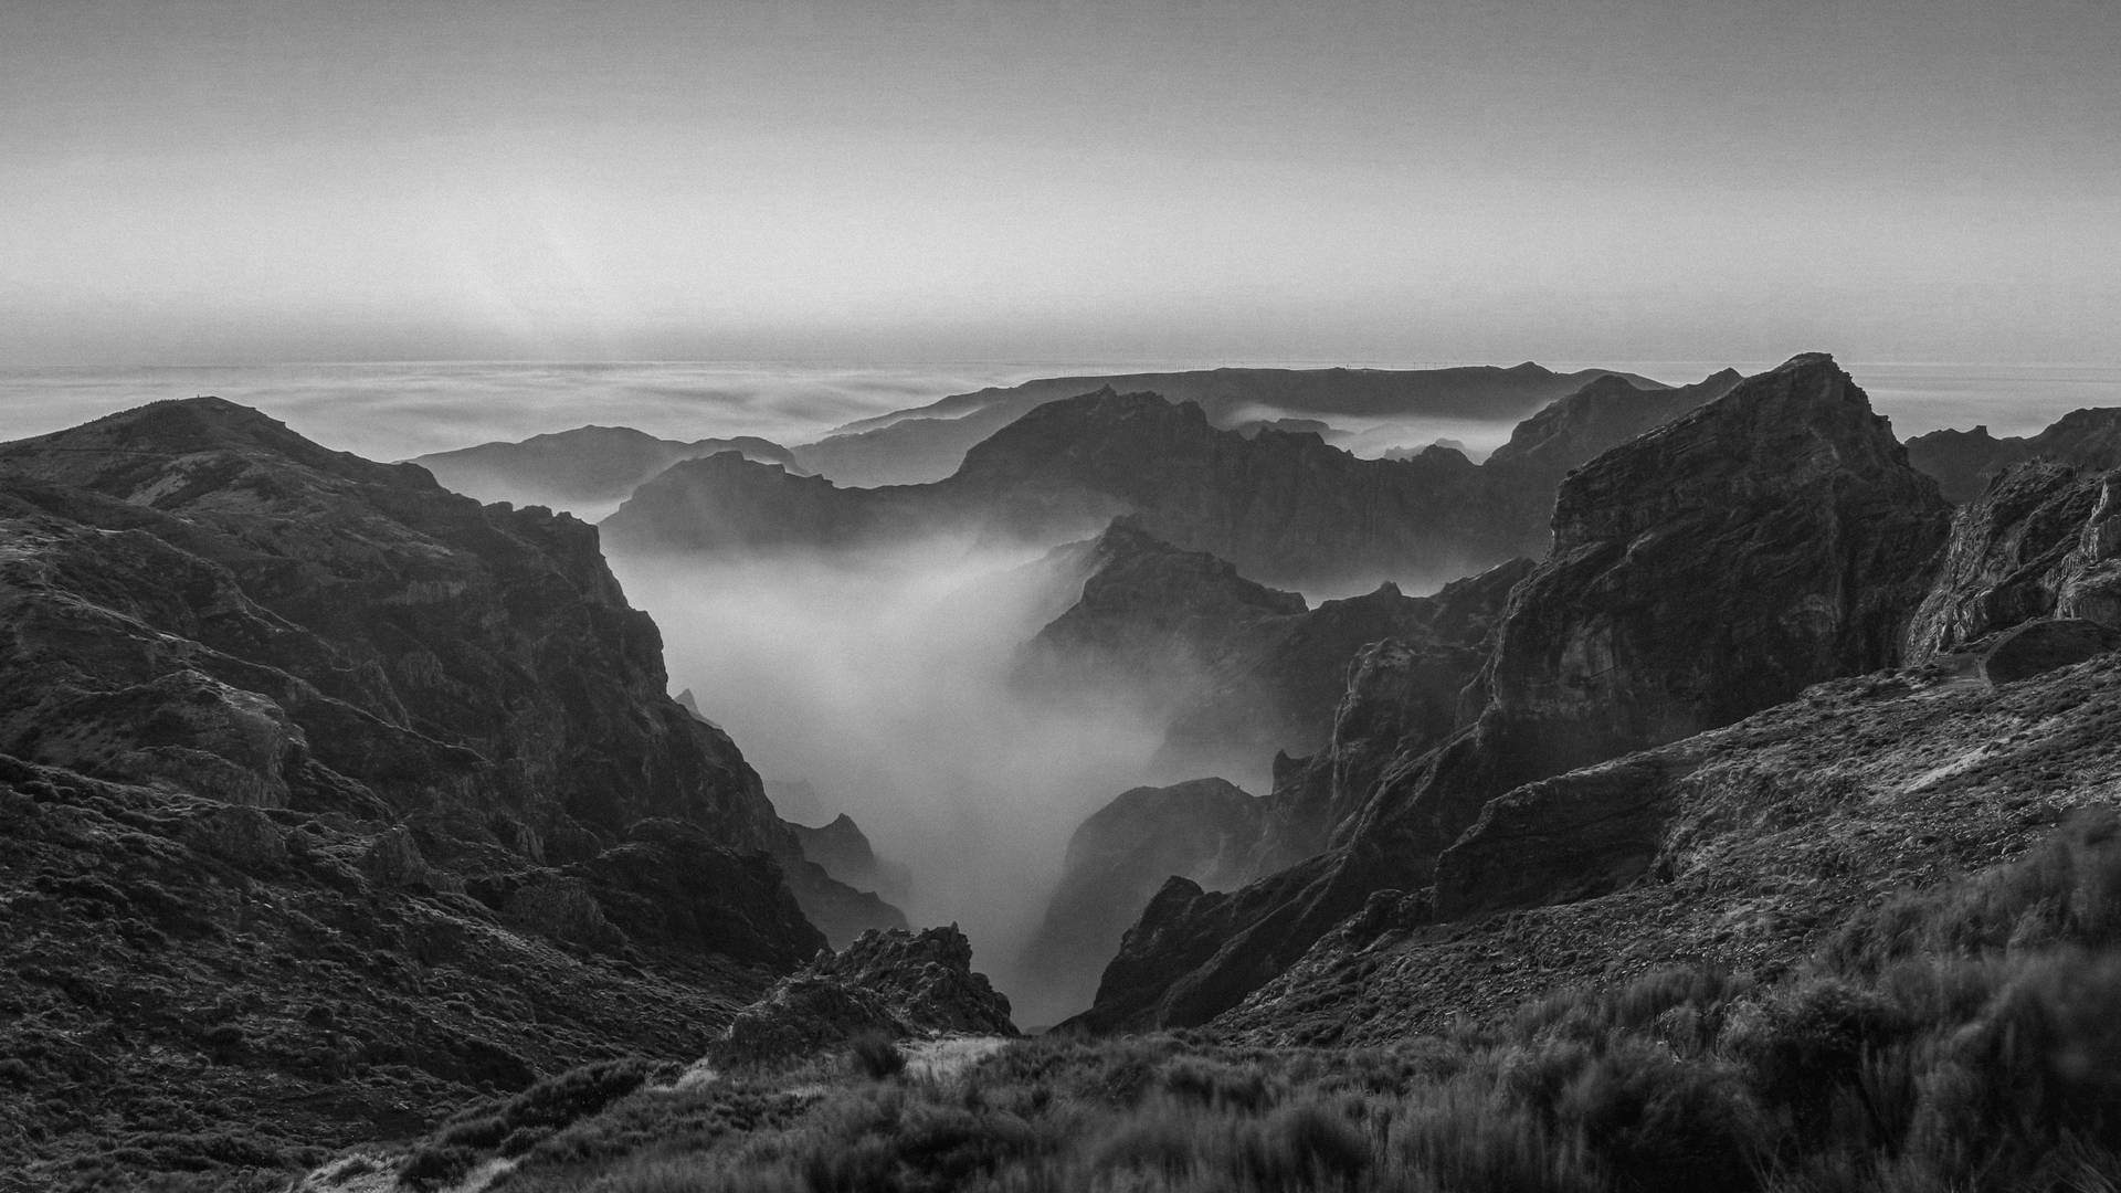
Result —
<instances>
[{"instance_id":1,"label":"mist-veiled jagged spurs jutting into the valley fog from the right","mask_svg":"<svg viewBox=\"0 0 2121 1193\"><path fill-rule=\"evenodd\" d=\"M1135 788L1077 828L1024 951L1044 1006L1069 1010L1088 1002L1092 974L1167 877L1234 887L1309 858L1336 815L1321 777L1360 766L1383 722L1387 747L1440 741L1512 586L1531 571L1514 560L1434 596L1387 586L1307 609L1126 520L1088 554L1080 601L1027 643L1018 684L1088 701L1133 694L1143 715L1171 717L1158 758L1167 773L1277 754L1264 798L1224 779ZM1393 679L1379 684L1385 669Z\"/></svg>"}]
</instances>

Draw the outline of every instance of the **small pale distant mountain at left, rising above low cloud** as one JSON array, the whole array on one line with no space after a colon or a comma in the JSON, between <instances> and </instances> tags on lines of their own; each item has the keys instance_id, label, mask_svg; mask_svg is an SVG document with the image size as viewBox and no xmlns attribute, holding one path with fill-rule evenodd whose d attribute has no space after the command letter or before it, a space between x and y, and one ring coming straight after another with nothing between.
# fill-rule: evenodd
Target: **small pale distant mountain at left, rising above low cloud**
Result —
<instances>
[{"instance_id":1,"label":"small pale distant mountain at left, rising above low cloud","mask_svg":"<svg viewBox=\"0 0 2121 1193\"><path fill-rule=\"evenodd\" d=\"M518 442L433 452L409 463L479 501L547 505L594 520L617 509L643 480L679 461L717 452L736 452L747 461L802 471L787 448L755 435L681 444L632 427L575 427Z\"/></svg>"}]
</instances>

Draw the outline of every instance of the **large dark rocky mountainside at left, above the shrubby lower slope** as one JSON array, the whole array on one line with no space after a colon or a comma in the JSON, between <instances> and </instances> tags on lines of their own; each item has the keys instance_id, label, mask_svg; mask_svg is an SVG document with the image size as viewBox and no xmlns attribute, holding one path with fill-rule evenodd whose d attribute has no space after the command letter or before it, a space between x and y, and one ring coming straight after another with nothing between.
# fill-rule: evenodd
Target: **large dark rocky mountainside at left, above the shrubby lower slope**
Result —
<instances>
[{"instance_id":1,"label":"large dark rocky mountainside at left, above the shrubby lower slope","mask_svg":"<svg viewBox=\"0 0 2121 1193\"><path fill-rule=\"evenodd\" d=\"M112 779L235 768L255 802L462 819L530 860L651 815L787 849L730 739L664 694L655 624L573 518L484 507L218 399L0 446L0 473L21 543L0 749ZM23 741L142 686L193 692L218 762Z\"/></svg>"}]
</instances>

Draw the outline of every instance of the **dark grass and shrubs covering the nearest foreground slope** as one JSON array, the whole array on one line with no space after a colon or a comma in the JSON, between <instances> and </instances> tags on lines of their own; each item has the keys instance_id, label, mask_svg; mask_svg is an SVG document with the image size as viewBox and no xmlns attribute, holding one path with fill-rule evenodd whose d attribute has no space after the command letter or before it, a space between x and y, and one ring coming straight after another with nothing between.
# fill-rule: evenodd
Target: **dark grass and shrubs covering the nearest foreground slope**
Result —
<instances>
[{"instance_id":1,"label":"dark grass and shrubs covering the nearest foreground slope","mask_svg":"<svg viewBox=\"0 0 2121 1193\"><path fill-rule=\"evenodd\" d=\"M1858 913L1773 983L1676 968L1377 1049L1048 1036L948 1076L831 1057L649 1083L528 1134L467 1112L403 1172L511 1157L492 1189L515 1193L2115 1189L2117 945L2121 817L2096 811Z\"/></svg>"}]
</instances>

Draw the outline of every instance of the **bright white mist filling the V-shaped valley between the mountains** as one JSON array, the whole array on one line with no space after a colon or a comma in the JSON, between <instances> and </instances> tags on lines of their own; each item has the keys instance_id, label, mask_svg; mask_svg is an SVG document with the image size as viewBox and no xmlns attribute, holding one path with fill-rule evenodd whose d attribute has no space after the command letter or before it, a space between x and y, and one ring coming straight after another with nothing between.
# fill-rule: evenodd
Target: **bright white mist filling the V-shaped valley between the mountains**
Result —
<instances>
[{"instance_id":1,"label":"bright white mist filling the V-shaped valley between the mountains","mask_svg":"<svg viewBox=\"0 0 2121 1193\"><path fill-rule=\"evenodd\" d=\"M1012 688L1018 647L1080 594L1082 575L1048 554L925 539L611 560L662 626L672 692L691 688L759 775L814 785L812 815L846 811L880 860L908 866L908 919L959 923L1018 1023L1080 1010L1016 972L1069 834L1122 790L1171 779L1154 764L1169 717L1150 705Z\"/></svg>"}]
</instances>

